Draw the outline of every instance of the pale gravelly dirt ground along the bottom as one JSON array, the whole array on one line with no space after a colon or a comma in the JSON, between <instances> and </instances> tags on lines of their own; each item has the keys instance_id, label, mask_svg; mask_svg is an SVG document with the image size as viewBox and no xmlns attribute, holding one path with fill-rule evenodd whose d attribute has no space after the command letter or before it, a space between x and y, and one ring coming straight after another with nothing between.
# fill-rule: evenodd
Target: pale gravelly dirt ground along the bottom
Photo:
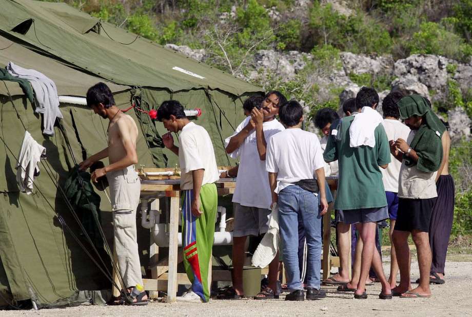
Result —
<instances>
[{"instance_id":1,"label":"pale gravelly dirt ground along the bottom","mask_svg":"<svg viewBox=\"0 0 472 317\"><path fill-rule=\"evenodd\" d=\"M472 316L472 256L454 256L446 262L446 283L432 285L429 299L380 300L380 284L368 286L367 300L355 300L353 294L337 292L333 286L323 286L328 297L318 301L285 302L279 300L221 301L207 304L150 303L145 307L111 307L81 305L63 309L42 309L39 311L3 311L2 316L301 316L301 315L382 315L382 316ZM385 265L385 271L388 269ZM411 278L418 278L418 264L412 263ZM415 287L415 286L413 286Z\"/></svg>"}]
</instances>

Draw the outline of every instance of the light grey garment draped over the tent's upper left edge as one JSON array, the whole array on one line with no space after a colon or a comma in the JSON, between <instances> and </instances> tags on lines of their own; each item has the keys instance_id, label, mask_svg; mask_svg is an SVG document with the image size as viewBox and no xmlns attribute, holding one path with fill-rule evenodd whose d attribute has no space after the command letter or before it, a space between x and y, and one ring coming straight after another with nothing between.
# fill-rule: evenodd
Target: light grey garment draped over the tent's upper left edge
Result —
<instances>
[{"instance_id":1,"label":"light grey garment draped over the tent's upper left edge","mask_svg":"<svg viewBox=\"0 0 472 317\"><path fill-rule=\"evenodd\" d=\"M26 79L31 83L37 101L35 112L44 115L43 133L54 135L54 122L56 118L63 118L59 110L59 97L57 96L57 88L54 81L43 73L20 67L11 61L6 68L12 76Z\"/></svg>"}]
</instances>

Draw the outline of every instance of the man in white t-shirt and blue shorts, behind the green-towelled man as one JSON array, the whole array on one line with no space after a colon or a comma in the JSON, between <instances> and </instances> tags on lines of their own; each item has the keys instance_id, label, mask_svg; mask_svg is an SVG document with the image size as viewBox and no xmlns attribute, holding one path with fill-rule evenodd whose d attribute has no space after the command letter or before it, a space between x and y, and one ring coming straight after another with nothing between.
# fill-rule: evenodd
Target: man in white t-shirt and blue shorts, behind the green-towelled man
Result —
<instances>
[{"instance_id":1,"label":"man in white t-shirt and blue shorts, behind the green-towelled man","mask_svg":"<svg viewBox=\"0 0 472 317\"><path fill-rule=\"evenodd\" d=\"M400 122L400 111L397 103L403 98L403 94L396 91L391 92L382 101L382 112L384 120L382 122L389 142L394 142L398 138L406 140L410 133L410 128ZM391 155L391 154L390 154ZM388 283L390 288L397 286L398 263L395 246L391 240L394 233L395 222L397 221L398 211L398 177L400 176L400 167L402 163L391 156L391 164L388 164L382 172L382 180L385 187L385 196L387 197L388 216L390 218L390 277Z\"/></svg>"}]
</instances>

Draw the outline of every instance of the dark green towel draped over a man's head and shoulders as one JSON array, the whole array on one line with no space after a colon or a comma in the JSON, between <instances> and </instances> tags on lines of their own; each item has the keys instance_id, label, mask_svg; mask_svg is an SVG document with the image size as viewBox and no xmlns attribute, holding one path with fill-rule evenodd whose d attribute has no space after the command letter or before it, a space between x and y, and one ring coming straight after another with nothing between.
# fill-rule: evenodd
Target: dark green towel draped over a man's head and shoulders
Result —
<instances>
[{"instance_id":1,"label":"dark green towel draped over a man's head and shoulders","mask_svg":"<svg viewBox=\"0 0 472 317\"><path fill-rule=\"evenodd\" d=\"M446 127L431 110L431 103L428 99L419 95L409 95L403 97L398 102L400 117L406 119L412 116L424 118L423 124L418 129L415 137L410 143L411 149L418 155L418 162L409 160L404 156L407 166L418 164L417 168L421 172L432 173L439 170L443 157L441 137Z\"/></svg>"}]
</instances>

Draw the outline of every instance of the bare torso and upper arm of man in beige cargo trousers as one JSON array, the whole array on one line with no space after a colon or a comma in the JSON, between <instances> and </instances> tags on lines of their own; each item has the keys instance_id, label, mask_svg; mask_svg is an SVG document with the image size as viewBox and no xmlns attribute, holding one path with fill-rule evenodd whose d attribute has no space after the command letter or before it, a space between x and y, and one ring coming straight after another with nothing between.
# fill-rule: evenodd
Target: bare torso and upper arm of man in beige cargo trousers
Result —
<instances>
[{"instance_id":1,"label":"bare torso and upper arm of man in beige cargo trousers","mask_svg":"<svg viewBox=\"0 0 472 317\"><path fill-rule=\"evenodd\" d=\"M110 122L108 128L108 158L113 164L126 156L129 151L136 151L138 135L133 118L124 113Z\"/></svg>"}]
</instances>

